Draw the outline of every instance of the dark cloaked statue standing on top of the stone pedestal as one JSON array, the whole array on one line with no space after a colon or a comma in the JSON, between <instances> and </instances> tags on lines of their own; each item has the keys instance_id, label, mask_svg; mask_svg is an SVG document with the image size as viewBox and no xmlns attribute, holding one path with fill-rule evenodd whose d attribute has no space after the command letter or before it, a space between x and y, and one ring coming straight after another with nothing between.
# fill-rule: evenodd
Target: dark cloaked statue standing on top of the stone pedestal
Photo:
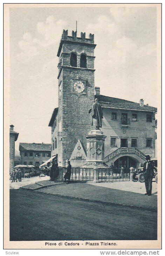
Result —
<instances>
[{"instance_id":1,"label":"dark cloaked statue standing on top of the stone pedestal","mask_svg":"<svg viewBox=\"0 0 165 256\"><path fill-rule=\"evenodd\" d=\"M89 113L91 113L92 116L91 125L95 126L96 129L102 127L103 110L97 98L95 99L92 108L89 110Z\"/></svg>"}]
</instances>

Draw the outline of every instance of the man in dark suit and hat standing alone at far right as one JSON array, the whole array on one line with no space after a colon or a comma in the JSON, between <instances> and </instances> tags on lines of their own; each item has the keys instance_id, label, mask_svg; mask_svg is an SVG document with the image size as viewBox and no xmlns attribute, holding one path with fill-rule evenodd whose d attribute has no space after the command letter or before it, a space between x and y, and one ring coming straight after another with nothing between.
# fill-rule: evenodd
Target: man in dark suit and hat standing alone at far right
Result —
<instances>
[{"instance_id":1,"label":"man in dark suit and hat standing alone at far right","mask_svg":"<svg viewBox=\"0 0 165 256\"><path fill-rule=\"evenodd\" d=\"M146 193L145 195L151 196L152 194L152 178L153 178L153 168L154 162L151 161L151 157L146 155L146 162L144 163L143 171L144 171L144 181L145 181L145 188Z\"/></svg>"}]
</instances>

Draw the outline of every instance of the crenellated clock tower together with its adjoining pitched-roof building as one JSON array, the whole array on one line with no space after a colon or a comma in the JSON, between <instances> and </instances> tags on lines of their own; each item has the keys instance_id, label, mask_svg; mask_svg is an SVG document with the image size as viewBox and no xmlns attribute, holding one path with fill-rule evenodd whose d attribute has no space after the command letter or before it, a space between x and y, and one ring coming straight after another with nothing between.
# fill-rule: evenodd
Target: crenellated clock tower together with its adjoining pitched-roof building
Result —
<instances>
[{"instance_id":1,"label":"crenellated clock tower together with its adjoining pitched-roof building","mask_svg":"<svg viewBox=\"0 0 165 256\"><path fill-rule=\"evenodd\" d=\"M117 168L138 167L145 155L155 156L155 113L157 108L104 96L94 85L94 35L77 31L68 36L63 30L59 57L59 106L51 116L52 156L58 154L59 165L70 160L72 166L82 166L87 156L85 136L91 126L89 110L98 98L103 109L102 128L105 139L105 161ZM77 144L79 143L79 144ZM78 145L78 146L77 146ZM97 151L99 154L99 151ZM96 153L97 153L96 152Z\"/></svg>"}]
</instances>

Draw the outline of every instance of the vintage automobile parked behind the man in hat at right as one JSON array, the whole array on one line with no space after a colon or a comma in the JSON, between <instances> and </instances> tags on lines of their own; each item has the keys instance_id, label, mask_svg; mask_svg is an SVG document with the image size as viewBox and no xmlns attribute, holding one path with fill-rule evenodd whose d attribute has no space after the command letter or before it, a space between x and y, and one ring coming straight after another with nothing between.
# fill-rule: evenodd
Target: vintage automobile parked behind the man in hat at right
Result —
<instances>
[{"instance_id":1,"label":"vintage automobile parked behind the man in hat at right","mask_svg":"<svg viewBox=\"0 0 165 256\"><path fill-rule=\"evenodd\" d=\"M153 158L151 159L154 161L154 175L153 178L155 178L156 183L158 183L158 172L157 172L157 159ZM144 182L144 171L143 167L139 167L138 169L132 169L130 173L130 178L131 181L139 181L139 182Z\"/></svg>"}]
</instances>

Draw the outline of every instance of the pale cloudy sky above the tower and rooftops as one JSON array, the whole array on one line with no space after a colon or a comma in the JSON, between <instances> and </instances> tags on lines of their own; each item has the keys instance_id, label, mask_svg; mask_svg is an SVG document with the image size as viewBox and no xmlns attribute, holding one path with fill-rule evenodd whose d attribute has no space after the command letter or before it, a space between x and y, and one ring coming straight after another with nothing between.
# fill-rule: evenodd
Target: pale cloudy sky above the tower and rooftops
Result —
<instances>
[{"instance_id":1,"label":"pale cloudy sky above the tower and rooftops","mask_svg":"<svg viewBox=\"0 0 165 256\"><path fill-rule=\"evenodd\" d=\"M101 94L157 107L156 7L11 8L10 122L20 142L51 143L63 29L95 34Z\"/></svg>"}]
</instances>

